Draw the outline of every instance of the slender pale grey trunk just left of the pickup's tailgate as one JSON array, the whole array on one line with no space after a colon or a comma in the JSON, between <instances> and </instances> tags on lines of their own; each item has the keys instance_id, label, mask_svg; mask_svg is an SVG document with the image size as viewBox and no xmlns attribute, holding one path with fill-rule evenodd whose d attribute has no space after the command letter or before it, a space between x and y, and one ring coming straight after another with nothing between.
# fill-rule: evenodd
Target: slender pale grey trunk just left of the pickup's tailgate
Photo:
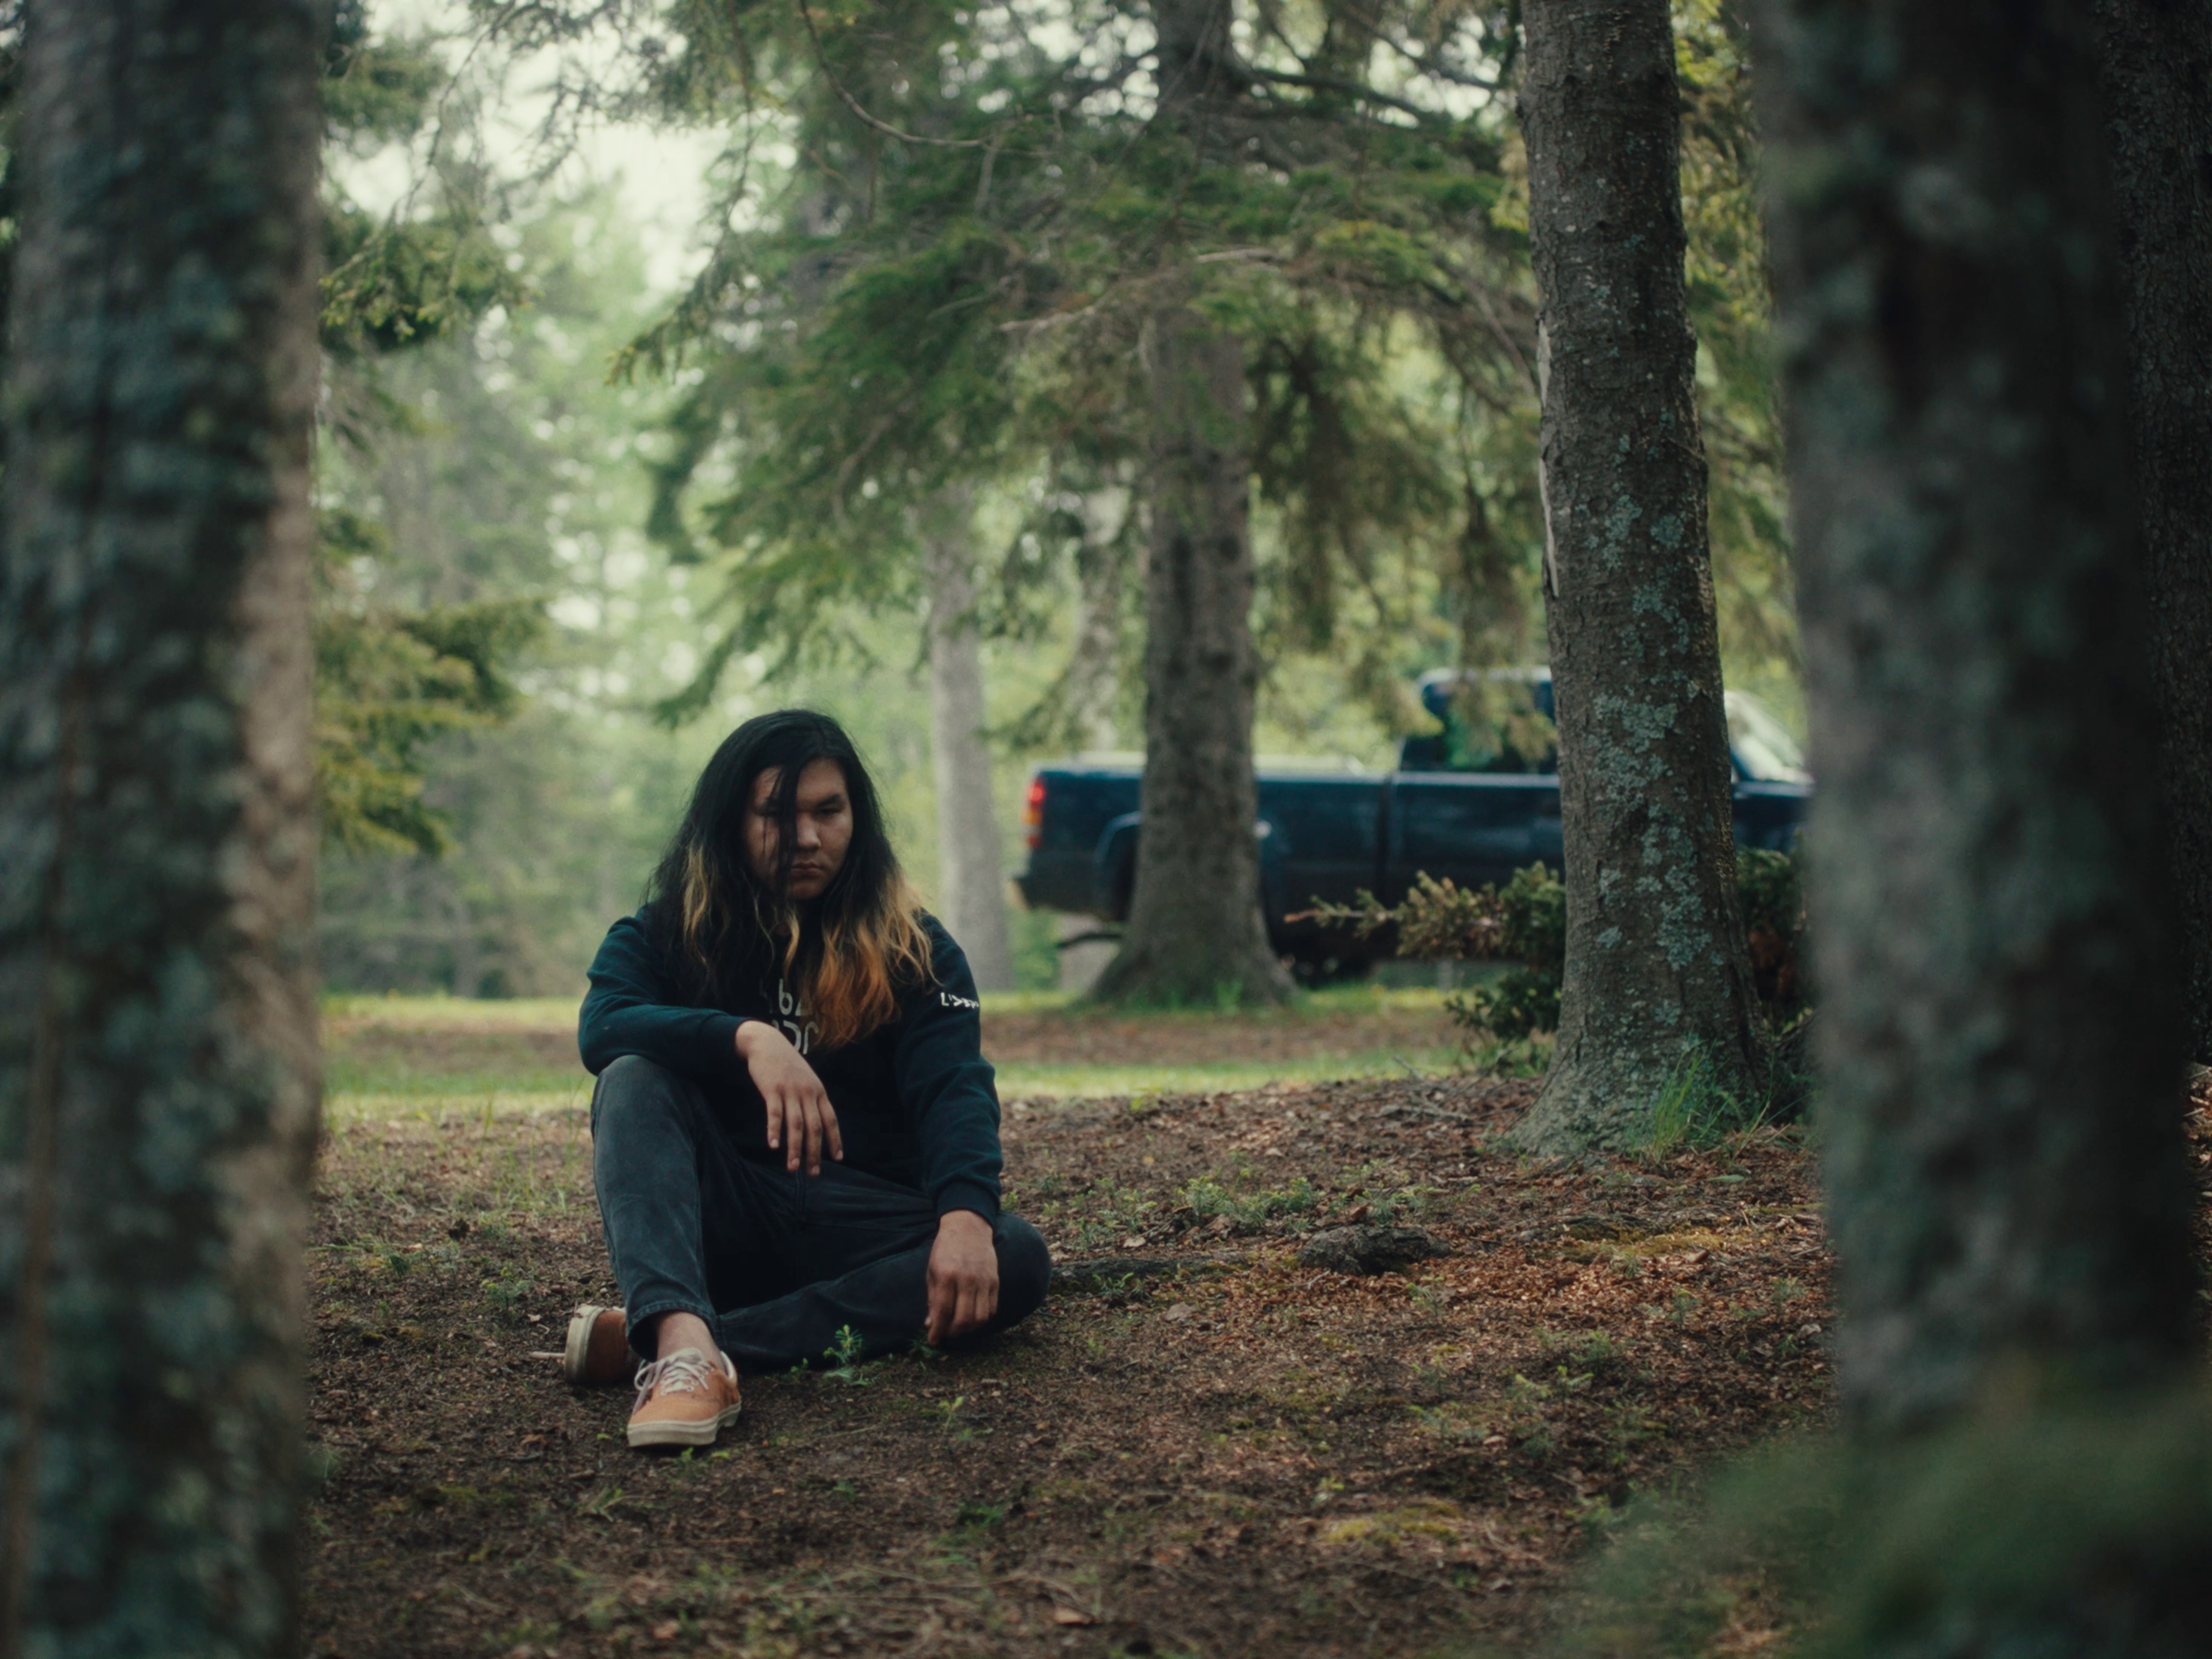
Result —
<instances>
[{"instance_id":1,"label":"slender pale grey trunk just left of the pickup's tailgate","mask_svg":"<svg viewBox=\"0 0 2212 1659\"><path fill-rule=\"evenodd\" d=\"M938 907L975 984L1013 989L1006 874L1000 869L984 741L982 635L967 489L945 491L922 526L929 557L929 752L938 783Z\"/></svg>"}]
</instances>

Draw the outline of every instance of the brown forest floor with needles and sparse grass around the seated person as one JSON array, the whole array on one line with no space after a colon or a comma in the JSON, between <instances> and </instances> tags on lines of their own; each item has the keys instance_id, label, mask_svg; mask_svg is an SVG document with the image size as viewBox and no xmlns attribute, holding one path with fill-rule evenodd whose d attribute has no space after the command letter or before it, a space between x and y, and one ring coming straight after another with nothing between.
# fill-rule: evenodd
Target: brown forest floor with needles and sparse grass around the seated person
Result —
<instances>
[{"instance_id":1,"label":"brown forest floor with needles and sparse grass around the seated person","mask_svg":"<svg viewBox=\"0 0 2212 1659\"><path fill-rule=\"evenodd\" d=\"M1323 1011L1298 1071L1411 1046L1400 1015ZM1265 1064L1270 1033L1314 1035L987 1013L1009 1075ZM1827 1409L1794 1133L1531 1164L1500 1141L1531 1084L1400 1066L1009 1097L1009 1206L1106 1265L989 1347L748 1378L717 1451L630 1453L628 1391L544 1358L615 1301L584 1093L482 1088L580 1075L553 1029L369 1011L330 1048L314 1655L1515 1650L1630 1493ZM1349 1219L1451 1254L1296 1261Z\"/></svg>"}]
</instances>

